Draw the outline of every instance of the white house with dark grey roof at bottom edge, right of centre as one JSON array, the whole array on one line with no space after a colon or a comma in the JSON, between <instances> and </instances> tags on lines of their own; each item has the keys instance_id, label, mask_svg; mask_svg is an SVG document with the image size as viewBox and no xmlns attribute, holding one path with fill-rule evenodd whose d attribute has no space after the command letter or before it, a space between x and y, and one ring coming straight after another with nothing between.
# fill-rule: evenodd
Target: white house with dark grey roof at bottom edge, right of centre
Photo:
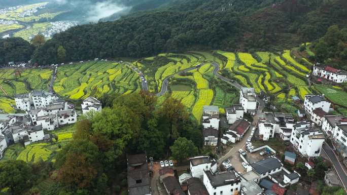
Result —
<instances>
[{"instance_id":1,"label":"white house with dark grey roof at bottom edge, right of centre","mask_svg":"<svg viewBox=\"0 0 347 195\"><path fill-rule=\"evenodd\" d=\"M209 194L237 194L241 190L241 181L235 171L213 173L203 172L203 184Z\"/></svg>"}]
</instances>

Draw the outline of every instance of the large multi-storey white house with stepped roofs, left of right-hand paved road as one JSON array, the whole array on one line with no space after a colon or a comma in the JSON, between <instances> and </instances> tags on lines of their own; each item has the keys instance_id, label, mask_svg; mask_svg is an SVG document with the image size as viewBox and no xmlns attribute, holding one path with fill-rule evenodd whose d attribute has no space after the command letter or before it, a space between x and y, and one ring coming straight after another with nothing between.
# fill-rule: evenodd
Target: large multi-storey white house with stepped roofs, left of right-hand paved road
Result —
<instances>
[{"instance_id":1,"label":"large multi-storey white house with stepped roofs, left of right-hand paved road","mask_svg":"<svg viewBox=\"0 0 347 195\"><path fill-rule=\"evenodd\" d=\"M304 157L319 157L324 135L320 129L312 127L309 122L299 122L293 126L290 142Z\"/></svg>"}]
</instances>

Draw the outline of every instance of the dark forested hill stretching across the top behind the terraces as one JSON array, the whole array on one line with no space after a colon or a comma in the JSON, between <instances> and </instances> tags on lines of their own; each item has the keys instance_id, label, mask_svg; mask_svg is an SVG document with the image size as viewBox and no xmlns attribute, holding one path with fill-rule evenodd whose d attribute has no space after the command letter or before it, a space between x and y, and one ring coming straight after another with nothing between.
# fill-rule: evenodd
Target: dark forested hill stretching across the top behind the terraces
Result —
<instances>
[{"instance_id":1,"label":"dark forested hill stretching across the top behind the terraces","mask_svg":"<svg viewBox=\"0 0 347 195\"><path fill-rule=\"evenodd\" d=\"M56 34L34 52L33 62L143 57L189 49L282 50L318 40L333 24L342 29L346 18L345 0L175 0L114 22ZM59 46L66 55L58 58ZM340 46L343 50L346 44Z\"/></svg>"}]
</instances>

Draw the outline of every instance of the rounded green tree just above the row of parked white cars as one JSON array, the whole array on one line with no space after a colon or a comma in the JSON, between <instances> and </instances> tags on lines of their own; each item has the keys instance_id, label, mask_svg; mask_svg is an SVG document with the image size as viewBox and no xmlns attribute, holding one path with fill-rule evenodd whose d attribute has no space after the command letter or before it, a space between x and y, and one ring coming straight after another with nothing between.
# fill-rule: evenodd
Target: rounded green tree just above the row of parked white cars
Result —
<instances>
[{"instance_id":1,"label":"rounded green tree just above the row of parked white cars","mask_svg":"<svg viewBox=\"0 0 347 195\"><path fill-rule=\"evenodd\" d=\"M175 142L173 142L173 145L170 147L170 149L172 158L177 160L178 162L187 160L188 157L192 157L198 152L198 148L194 145L194 143L184 137L180 137Z\"/></svg>"}]
</instances>

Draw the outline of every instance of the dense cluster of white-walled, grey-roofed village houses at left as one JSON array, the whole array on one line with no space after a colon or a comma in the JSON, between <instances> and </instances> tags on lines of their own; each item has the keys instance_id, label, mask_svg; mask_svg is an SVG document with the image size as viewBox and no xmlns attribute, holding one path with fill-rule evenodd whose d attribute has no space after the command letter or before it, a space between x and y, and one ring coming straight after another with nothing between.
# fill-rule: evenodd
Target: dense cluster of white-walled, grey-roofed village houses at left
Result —
<instances>
[{"instance_id":1,"label":"dense cluster of white-walled, grey-roofed village houses at left","mask_svg":"<svg viewBox=\"0 0 347 195\"><path fill-rule=\"evenodd\" d=\"M74 124L77 113L73 104L58 98L53 93L31 91L28 94L15 96L17 109L24 110L20 114L0 114L0 158L10 144L23 142L24 145L35 141L49 140L49 134L60 126ZM91 110L101 111L101 103L88 97L82 103L83 113Z\"/></svg>"}]
</instances>

